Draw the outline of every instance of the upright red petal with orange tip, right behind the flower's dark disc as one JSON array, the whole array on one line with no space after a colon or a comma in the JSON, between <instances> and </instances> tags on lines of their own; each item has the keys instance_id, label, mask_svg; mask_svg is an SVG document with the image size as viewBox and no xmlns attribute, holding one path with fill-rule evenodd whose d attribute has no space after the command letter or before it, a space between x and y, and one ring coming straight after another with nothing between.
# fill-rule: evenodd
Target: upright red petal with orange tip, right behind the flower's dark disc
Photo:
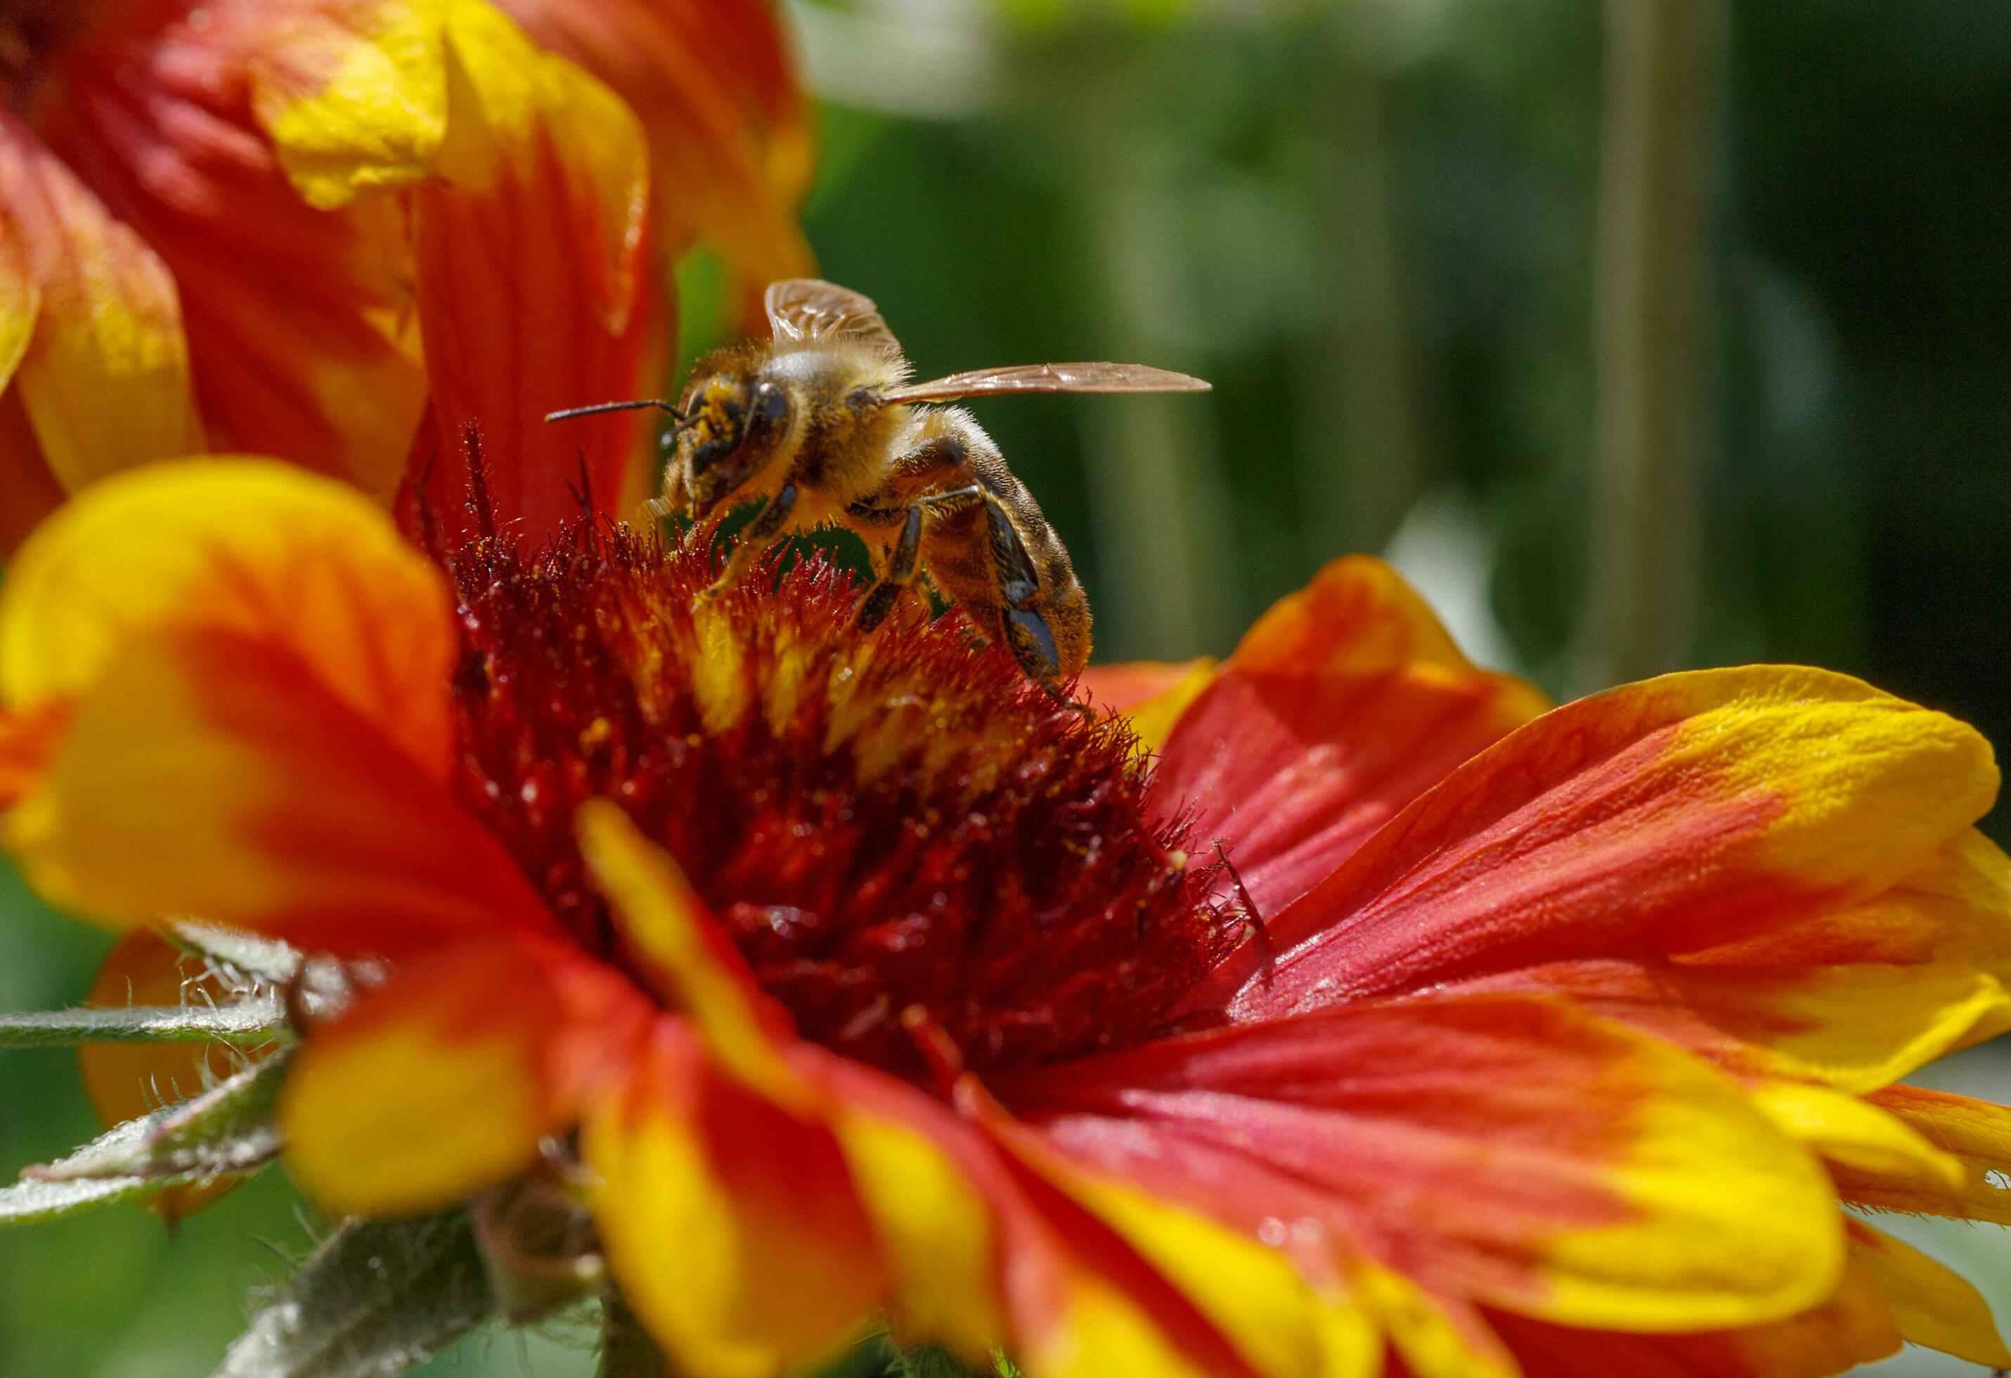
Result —
<instances>
[{"instance_id":1,"label":"upright red petal with orange tip, right behind the flower's dark disc","mask_svg":"<svg viewBox=\"0 0 2011 1378\"><path fill-rule=\"evenodd\" d=\"M1456 764L1548 708L1476 670L1380 559L1267 612L1166 736L1154 795L1197 809L1271 917Z\"/></svg>"}]
</instances>

